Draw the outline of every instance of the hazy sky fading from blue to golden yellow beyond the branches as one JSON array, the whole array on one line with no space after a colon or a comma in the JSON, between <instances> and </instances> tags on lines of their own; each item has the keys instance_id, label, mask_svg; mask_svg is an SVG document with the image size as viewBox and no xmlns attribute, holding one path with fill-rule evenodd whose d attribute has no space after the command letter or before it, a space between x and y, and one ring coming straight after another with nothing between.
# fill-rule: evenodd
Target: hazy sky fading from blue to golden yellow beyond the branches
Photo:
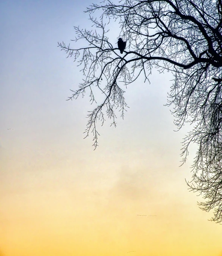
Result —
<instances>
[{"instance_id":1,"label":"hazy sky fading from blue to golden yellow beyond the branches","mask_svg":"<svg viewBox=\"0 0 222 256\"><path fill-rule=\"evenodd\" d=\"M170 73L128 87L96 150L84 139L92 106L66 101L83 76L57 42L91 28L90 4L0 1L0 256L222 256L222 226L185 182L195 146L179 167L189 127L164 106Z\"/></svg>"}]
</instances>

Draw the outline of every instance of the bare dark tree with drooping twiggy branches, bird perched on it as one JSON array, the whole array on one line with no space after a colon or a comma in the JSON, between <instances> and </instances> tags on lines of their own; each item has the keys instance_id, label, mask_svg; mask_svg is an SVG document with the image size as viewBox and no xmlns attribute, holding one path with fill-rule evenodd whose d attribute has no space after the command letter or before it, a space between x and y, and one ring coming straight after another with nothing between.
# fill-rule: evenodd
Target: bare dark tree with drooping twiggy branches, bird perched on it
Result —
<instances>
[{"instance_id":1,"label":"bare dark tree with drooping twiggy branches, bird perched on it","mask_svg":"<svg viewBox=\"0 0 222 256\"><path fill-rule=\"evenodd\" d=\"M127 104L122 85L140 75L145 81L153 67L171 71L174 82L168 97L173 106L175 124L192 129L184 139L183 162L191 143L198 146L189 188L199 192L204 202L200 208L214 209L215 222L222 222L222 1L221 0L104 0L87 8L96 30L75 27L76 38L88 45L71 49L59 43L68 57L82 65L85 76L69 99L98 89L103 101L88 115L86 137L94 134L96 121L104 122L104 109L116 125L115 109L124 116ZM93 13L100 13L93 18ZM124 56L110 43L105 22L118 21L120 37L127 40ZM117 37L118 38L118 37ZM117 39L116 39L117 40ZM102 79L104 79L102 81Z\"/></svg>"}]
</instances>

